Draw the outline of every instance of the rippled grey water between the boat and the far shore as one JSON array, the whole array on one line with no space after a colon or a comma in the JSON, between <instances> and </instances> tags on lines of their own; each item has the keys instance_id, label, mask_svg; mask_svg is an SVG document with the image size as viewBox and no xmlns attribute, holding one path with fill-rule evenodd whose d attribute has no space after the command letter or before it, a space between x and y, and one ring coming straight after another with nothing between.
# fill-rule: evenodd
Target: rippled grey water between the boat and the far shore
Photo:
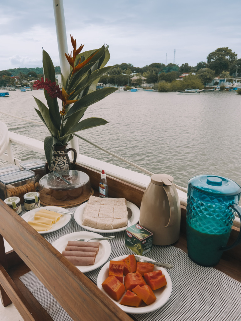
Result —
<instances>
[{"instance_id":1,"label":"rippled grey water between the boat and the far shore","mask_svg":"<svg viewBox=\"0 0 241 321\"><path fill-rule=\"evenodd\" d=\"M0 111L40 121L33 95L39 91L10 91L0 99ZM109 123L81 131L84 138L153 172L174 177L187 187L189 178L200 174L228 177L241 185L241 96L235 92L115 92L89 106L84 117L102 117ZM45 126L5 116L10 131L44 140ZM128 169L130 165L79 139L80 153ZM26 160L30 152L14 146L14 156ZM43 155L36 155L44 160ZM5 164L0 160L0 165Z\"/></svg>"}]
</instances>

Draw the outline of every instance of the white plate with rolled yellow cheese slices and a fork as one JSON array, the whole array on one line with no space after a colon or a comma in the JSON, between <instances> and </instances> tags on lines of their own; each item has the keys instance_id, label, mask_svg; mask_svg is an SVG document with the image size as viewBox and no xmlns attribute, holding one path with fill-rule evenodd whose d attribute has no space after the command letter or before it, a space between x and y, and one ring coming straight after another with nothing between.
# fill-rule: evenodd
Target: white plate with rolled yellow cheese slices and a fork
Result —
<instances>
[{"instance_id":1,"label":"white plate with rolled yellow cheese slices and a fork","mask_svg":"<svg viewBox=\"0 0 241 321\"><path fill-rule=\"evenodd\" d=\"M39 207L24 213L22 219L40 234L51 233L61 229L71 219L70 214L62 214L58 211L66 210L58 206Z\"/></svg>"}]
</instances>

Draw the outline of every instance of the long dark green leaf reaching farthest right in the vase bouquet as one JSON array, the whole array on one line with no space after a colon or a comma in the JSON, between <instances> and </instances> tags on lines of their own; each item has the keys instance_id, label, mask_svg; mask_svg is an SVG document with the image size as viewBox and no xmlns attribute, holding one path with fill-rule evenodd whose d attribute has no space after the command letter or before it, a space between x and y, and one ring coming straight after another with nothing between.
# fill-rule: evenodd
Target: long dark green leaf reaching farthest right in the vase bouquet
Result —
<instances>
[{"instance_id":1,"label":"long dark green leaf reaching farthest right in the vase bouquet","mask_svg":"<svg viewBox=\"0 0 241 321\"><path fill-rule=\"evenodd\" d=\"M72 114L76 113L80 109L84 107L88 107L94 104L95 102L102 100L103 98L110 95L112 92L116 91L117 89L118 88L114 88L114 87L106 87L106 88L93 91L88 95L85 95L84 97L76 101L71 108L69 108L67 112L67 116L71 116Z\"/></svg>"}]
</instances>

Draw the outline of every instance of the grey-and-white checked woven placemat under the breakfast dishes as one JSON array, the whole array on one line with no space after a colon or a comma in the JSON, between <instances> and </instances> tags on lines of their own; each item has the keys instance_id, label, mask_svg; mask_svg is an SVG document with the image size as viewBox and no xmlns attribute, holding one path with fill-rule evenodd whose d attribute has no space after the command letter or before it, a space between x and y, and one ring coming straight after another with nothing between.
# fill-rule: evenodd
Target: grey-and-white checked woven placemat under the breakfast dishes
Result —
<instances>
[{"instance_id":1,"label":"grey-and-white checked woven placemat under the breakfast dishes","mask_svg":"<svg viewBox=\"0 0 241 321\"><path fill-rule=\"evenodd\" d=\"M77 231L85 230L76 223L72 214L66 226L43 236L49 243L53 243L59 237ZM109 260L120 255L133 254L125 247L124 231L115 233L115 238L109 242L112 248ZM185 252L173 246L153 246L148 257L174 265L173 269L167 270L172 280L172 294L166 304L156 311L133 315L138 321L241 321L240 282L212 267L193 263ZM100 269L101 267L85 275L96 282ZM32 272L22 275L20 280L53 320L72 320Z\"/></svg>"}]
</instances>

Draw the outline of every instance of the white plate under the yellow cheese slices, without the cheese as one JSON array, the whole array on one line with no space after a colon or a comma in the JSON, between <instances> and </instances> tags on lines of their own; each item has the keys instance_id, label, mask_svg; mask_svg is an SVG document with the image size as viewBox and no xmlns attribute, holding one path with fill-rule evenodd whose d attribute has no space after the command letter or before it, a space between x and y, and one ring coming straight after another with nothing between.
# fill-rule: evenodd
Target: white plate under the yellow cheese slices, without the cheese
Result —
<instances>
[{"instance_id":1,"label":"white plate under the yellow cheese slices, without the cheese","mask_svg":"<svg viewBox=\"0 0 241 321\"><path fill-rule=\"evenodd\" d=\"M63 207L58 207L58 206L44 206L44 207L38 207L38 208L34 208L33 210L24 213L21 217L22 219L24 219L24 221L34 221L34 214L40 210L49 210L49 211L54 211L54 212L58 212L58 211L64 211L66 212L67 210L64 209ZM58 220L58 222L54 223L52 225L52 228L48 231L40 231L39 234L46 234L46 233L51 233L54 231L57 231L59 229L61 229L63 226L65 226L69 220L71 219L71 215L70 214L63 214L60 219Z\"/></svg>"}]
</instances>

